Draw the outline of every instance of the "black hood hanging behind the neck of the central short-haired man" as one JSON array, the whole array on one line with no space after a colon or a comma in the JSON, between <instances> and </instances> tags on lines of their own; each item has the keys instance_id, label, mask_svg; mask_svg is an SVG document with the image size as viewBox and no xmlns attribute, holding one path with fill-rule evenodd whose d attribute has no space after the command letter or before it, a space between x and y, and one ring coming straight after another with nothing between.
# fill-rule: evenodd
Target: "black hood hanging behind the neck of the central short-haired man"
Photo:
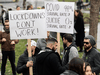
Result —
<instances>
[{"instance_id":1,"label":"black hood hanging behind the neck of the central short-haired man","mask_svg":"<svg viewBox=\"0 0 100 75\"><path fill-rule=\"evenodd\" d=\"M41 50L40 53L36 56L36 63L43 64L45 59L49 54L53 53L53 51L50 50Z\"/></svg>"}]
</instances>

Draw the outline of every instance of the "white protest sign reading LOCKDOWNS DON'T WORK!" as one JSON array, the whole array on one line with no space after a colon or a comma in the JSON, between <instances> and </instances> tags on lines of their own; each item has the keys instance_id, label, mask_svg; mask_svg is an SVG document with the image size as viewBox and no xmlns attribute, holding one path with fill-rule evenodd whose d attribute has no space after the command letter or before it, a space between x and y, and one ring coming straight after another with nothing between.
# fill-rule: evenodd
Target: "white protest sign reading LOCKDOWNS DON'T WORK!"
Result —
<instances>
[{"instance_id":1,"label":"white protest sign reading LOCKDOWNS DON'T WORK!","mask_svg":"<svg viewBox=\"0 0 100 75\"><path fill-rule=\"evenodd\" d=\"M45 10L10 11L10 38L46 38Z\"/></svg>"}]
</instances>

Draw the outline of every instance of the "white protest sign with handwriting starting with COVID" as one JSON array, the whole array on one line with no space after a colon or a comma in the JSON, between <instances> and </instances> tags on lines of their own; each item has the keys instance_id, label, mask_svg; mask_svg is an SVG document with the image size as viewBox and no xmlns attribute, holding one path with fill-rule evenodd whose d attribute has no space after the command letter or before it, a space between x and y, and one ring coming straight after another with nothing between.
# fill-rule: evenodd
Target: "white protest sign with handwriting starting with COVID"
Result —
<instances>
[{"instance_id":1,"label":"white protest sign with handwriting starting with COVID","mask_svg":"<svg viewBox=\"0 0 100 75\"><path fill-rule=\"evenodd\" d=\"M48 31L73 33L74 2L45 2Z\"/></svg>"}]
</instances>

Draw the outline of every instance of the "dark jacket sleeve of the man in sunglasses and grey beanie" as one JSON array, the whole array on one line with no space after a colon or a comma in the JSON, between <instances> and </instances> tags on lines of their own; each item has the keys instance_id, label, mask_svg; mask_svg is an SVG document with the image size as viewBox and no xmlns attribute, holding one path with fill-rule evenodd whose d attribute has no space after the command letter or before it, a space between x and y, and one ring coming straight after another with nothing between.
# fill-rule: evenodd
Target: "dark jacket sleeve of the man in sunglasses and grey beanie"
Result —
<instances>
[{"instance_id":1,"label":"dark jacket sleeve of the man in sunglasses and grey beanie","mask_svg":"<svg viewBox=\"0 0 100 75\"><path fill-rule=\"evenodd\" d=\"M94 64L95 64L95 67L92 67L92 72L99 73L100 72L100 53L94 56Z\"/></svg>"}]
</instances>

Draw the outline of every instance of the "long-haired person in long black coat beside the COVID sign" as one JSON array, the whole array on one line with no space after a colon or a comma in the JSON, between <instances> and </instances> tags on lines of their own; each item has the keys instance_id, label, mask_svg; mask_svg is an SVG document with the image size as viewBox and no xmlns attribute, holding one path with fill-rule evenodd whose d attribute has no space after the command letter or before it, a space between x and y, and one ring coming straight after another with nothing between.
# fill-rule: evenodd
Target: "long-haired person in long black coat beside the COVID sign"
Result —
<instances>
[{"instance_id":1,"label":"long-haired person in long black coat beside the COVID sign","mask_svg":"<svg viewBox=\"0 0 100 75\"><path fill-rule=\"evenodd\" d=\"M83 15L80 10L75 10L75 21L74 28L76 30L76 45L80 48L79 52L82 52L85 32Z\"/></svg>"}]
</instances>

